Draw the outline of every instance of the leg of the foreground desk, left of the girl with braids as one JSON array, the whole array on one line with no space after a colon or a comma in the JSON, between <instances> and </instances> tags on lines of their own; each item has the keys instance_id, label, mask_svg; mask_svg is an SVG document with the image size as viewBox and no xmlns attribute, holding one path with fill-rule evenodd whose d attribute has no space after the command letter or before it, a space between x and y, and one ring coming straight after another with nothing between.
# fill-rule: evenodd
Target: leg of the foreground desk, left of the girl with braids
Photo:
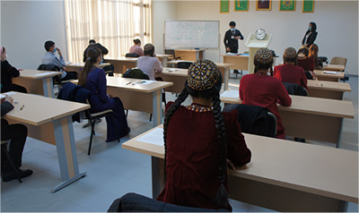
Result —
<instances>
[{"instance_id":1,"label":"leg of the foreground desk, left of the girl with braids","mask_svg":"<svg viewBox=\"0 0 359 213\"><path fill-rule=\"evenodd\" d=\"M164 188L164 161L160 158L151 157L152 164L152 197L156 199Z\"/></svg>"}]
</instances>

